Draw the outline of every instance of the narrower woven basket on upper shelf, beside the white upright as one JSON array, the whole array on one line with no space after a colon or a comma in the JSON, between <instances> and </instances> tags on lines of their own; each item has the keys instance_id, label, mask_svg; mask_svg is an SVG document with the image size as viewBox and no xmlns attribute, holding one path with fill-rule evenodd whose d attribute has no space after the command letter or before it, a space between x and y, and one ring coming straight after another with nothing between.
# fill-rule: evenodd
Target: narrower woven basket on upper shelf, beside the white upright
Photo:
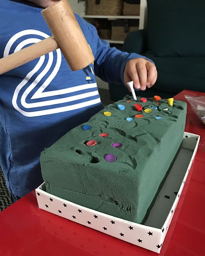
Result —
<instances>
[{"instance_id":1,"label":"narrower woven basket on upper shelf, beside the white upright","mask_svg":"<svg viewBox=\"0 0 205 256\"><path fill-rule=\"evenodd\" d=\"M139 16L140 0L124 0L123 15Z\"/></svg>"}]
</instances>

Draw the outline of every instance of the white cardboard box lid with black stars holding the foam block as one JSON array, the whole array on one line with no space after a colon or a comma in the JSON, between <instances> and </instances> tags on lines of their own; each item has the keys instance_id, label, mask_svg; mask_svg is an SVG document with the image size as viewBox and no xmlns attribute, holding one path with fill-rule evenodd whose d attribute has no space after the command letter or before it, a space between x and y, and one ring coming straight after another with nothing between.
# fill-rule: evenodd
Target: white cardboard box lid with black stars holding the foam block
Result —
<instances>
[{"instance_id":1,"label":"white cardboard box lid with black stars holding the foam block","mask_svg":"<svg viewBox=\"0 0 205 256\"><path fill-rule=\"evenodd\" d=\"M173 213L194 160L199 135L185 132L182 148L144 225L119 219L61 199L46 192L45 182L36 191L38 206L71 221L160 253Z\"/></svg>"}]
</instances>

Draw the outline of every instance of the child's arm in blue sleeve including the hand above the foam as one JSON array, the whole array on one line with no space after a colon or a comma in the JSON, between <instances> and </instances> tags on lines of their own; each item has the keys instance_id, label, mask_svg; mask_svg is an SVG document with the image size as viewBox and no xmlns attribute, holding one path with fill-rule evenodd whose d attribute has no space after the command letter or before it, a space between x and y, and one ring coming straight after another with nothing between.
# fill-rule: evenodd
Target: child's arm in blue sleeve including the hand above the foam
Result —
<instances>
[{"instance_id":1,"label":"child's arm in blue sleeve including the hand above the foam","mask_svg":"<svg viewBox=\"0 0 205 256\"><path fill-rule=\"evenodd\" d=\"M136 89L145 90L156 82L157 71L153 62L136 53L121 52L105 40L101 40L92 26L97 44L95 74L106 82L117 84L134 81Z\"/></svg>"}]
</instances>

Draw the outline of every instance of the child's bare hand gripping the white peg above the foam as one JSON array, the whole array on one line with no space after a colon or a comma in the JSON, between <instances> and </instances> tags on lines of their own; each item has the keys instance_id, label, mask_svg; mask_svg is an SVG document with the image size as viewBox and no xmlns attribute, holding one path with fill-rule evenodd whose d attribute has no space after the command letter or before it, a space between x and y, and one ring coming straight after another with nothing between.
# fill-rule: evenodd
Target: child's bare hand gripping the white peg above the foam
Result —
<instances>
[{"instance_id":1,"label":"child's bare hand gripping the white peg above the foam","mask_svg":"<svg viewBox=\"0 0 205 256\"><path fill-rule=\"evenodd\" d=\"M146 90L157 80L157 69L155 65L143 58L129 60L124 69L124 83L134 82L134 88Z\"/></svg>"}]
</instances>

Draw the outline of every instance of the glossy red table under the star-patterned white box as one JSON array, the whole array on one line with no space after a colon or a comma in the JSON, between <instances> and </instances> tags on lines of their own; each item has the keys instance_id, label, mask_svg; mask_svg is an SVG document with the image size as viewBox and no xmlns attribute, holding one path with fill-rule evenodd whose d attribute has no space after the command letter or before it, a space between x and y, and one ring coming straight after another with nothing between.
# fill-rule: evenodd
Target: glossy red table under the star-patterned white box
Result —
<instances>
[{"instance_id":1,"label":"glossy red table under the star-patterned white box","mask_svg":"<svg viewBox=\"0 0 205 256\"><path fill-rule=\"evenodd\" d=\"M174 98L205 93L184 90ZM188 180L160 255L205 255L205 126L188 103L186 132L201 136ZM190 180L190 181L189 181ZM154 252L40 210L35 192L0 213L2 256L144 256Z\"/></svg>"}]
</instances>

